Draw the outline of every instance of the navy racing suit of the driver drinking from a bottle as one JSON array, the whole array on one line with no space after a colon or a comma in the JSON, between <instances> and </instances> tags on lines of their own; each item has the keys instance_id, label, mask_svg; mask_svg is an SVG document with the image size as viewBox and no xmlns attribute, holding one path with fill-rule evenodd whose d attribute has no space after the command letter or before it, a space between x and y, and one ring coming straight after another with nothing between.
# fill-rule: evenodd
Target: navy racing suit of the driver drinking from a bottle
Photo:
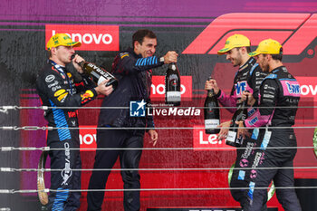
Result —
<instances>
[{"instance_id":1,"label":"navy racing suit of the driver drinking from a bottle","mask_svg":"<svg viewBox=\"0 0 317 211\"><path fill-rule=\"evenodd\" d=\"M79 131L71 129L78 128L77 110L57 107L80 107L92 101L97 97L94 87L85 74L82 74L82 82L75 83L71 72L51 60L36 80L36 90L43 106L53 107L45 110L44 117L49 127L57 128L48 130L47 146L61 149L49 152L51 168L62 169L62 172L51 172L51 189L55 191L49 195L47 208L50 210L77 210L81 197L81 192L69 191L81 189L82 182L81 171L72 171L82 168L80 151L71 150L80 148Z\"/></svg>"}]
</instances>

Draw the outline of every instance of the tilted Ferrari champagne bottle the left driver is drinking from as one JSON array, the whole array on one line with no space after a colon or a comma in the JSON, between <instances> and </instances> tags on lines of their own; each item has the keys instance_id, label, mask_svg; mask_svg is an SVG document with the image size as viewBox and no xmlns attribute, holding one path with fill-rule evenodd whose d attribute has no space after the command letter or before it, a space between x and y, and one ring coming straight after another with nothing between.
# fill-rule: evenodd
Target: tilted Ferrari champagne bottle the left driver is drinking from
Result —
<instances>
[{"instance_id":1,"label":"tilted Ferrari champagne bottle the left driver is drinking from","mask_svg":"<svg viewBox=\"0 0 317 211\"><path fill-rule=\"evenodd\" d=\"M83 72L91 75L93 82L96 82L99 85L104 80L110 79L110 81L106 83L106 86L112 85L113 89L117 88L118 80L112 74L110 74L110 72L107 72L92 62L82 61L78 64L82 67Z\"/></svg>"}]
</instances>

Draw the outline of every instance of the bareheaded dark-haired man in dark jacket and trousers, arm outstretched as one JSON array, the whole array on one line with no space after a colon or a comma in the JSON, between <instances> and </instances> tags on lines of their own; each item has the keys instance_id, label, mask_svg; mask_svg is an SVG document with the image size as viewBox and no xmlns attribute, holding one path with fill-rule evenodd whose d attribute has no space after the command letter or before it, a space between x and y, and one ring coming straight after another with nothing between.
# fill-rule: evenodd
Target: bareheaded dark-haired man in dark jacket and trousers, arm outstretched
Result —
<instances>
[{"instance_id":1,"label":"bareheaded dark-haired man in dark jacket and trousers, arm outstretched","mask_svg":"<svg viewBox=\"0 0 317 211\"><path fill-rule=\"evenodd\" d=\"M160 58L153 55L157 47L157 37L149 30L142 29L133 34L132 45L133 49L120 52L112 63L111 71L119 80L119 85L113 94L102 101L102 107L130 107L130 103L138 103L137 110L139 110L145 104L149 105L151 69L164 63L177 62L176 52L168 52ZM99 116L98 127L110 129L97 130L97 149L138 149L97 150L94 169L112 168L118 157L121 168L139 168L142 153L139 148L143 147L145 130L149 132L153 146L158 140L158 133L153 129L153 119L147 117L145 112L139 113L139 117L132 117L128 109L103 109ZM92 171L89 189L104 189L109 174L110 171ZM140 188L138 170L121 171L121 176L125 189ZM104 191L89 191L88 210L101 210L103 197ZM139 191L124 191L123 200L124 210L139 210Z\"/></svg>"}]
</instances>

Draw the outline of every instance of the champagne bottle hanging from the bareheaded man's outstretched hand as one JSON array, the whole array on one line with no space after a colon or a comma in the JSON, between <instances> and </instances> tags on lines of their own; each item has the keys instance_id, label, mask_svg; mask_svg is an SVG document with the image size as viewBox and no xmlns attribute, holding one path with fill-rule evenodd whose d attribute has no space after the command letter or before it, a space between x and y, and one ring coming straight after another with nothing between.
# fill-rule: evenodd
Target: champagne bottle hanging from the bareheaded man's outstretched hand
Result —
<instances>
[{"instance_id":1,"label":"champagne bottle hanging from the bareheaded man's outstretched hand","mask_svg":"<svg viewBox=\"0 0 317 211\"><path fill-rule=\"evenodd\" d=\"M165 75L165 102L180 105L180 76L176 63L168 65L168 71Z\"/></svg>"}]
</instances>

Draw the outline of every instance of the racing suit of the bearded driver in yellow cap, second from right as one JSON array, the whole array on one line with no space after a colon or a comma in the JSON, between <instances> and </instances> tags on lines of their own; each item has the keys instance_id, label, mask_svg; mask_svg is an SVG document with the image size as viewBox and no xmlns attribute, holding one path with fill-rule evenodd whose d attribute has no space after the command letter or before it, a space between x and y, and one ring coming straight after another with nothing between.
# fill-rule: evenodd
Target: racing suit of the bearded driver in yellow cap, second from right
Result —
<instances>
[{"instance_id":1,"label":"racing suit of the bearded driver in yellow cap, second from right","mask_svg":"<svg viewBox=\"0 0 317 211\"><path fill-rule=\"evenodd\" d=\"M232 107L230 112L235 112L236 108L241 105L241 95L243 91L250 91L253 96L257 98L258 90L261 82L264 80L267 74L262 72L258 63L256 63L254 58L250 58L244 65L242 65L239 70L235 73L234 86L227 96L225 92L219 91L216 95L218 101L225 107ZM235 107L235 108L234 108ZM248 116L254 113L254 109L248 110ZM238 168L250 168L251 160L254 156L254 151L252 150L256 146L254 139L246 138L243 139L241 148L246 149L236 149L235 158L235 168L230 181L230 187L247 187L248 185L248 175L246 170L239 170ZM231 190L231 195L236 201L240 202L241 206L244 205L246 201L246 191L245 189Z\"/></svg>"}]
</instances>

